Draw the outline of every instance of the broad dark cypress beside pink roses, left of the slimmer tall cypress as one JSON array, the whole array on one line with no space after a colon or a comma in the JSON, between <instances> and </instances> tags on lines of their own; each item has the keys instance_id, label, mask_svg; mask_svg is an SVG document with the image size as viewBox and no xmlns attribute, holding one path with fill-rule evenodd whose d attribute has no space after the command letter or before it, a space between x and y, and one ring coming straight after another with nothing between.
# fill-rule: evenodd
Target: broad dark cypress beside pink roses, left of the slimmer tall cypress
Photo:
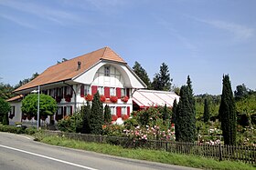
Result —
<instances>
[{"instance_id":1,"label":"broad dark cypress beside pink roses, left of the slimmer tall cypress","mask_svg":"<svg viewBox=\"0 0 256 170\"><path fill-rule=\"evenodd\" d=\"M196 107L189 76L182 85L176 109L176 141L194 142L196 139Z\"/></svg>"}]
</instances>

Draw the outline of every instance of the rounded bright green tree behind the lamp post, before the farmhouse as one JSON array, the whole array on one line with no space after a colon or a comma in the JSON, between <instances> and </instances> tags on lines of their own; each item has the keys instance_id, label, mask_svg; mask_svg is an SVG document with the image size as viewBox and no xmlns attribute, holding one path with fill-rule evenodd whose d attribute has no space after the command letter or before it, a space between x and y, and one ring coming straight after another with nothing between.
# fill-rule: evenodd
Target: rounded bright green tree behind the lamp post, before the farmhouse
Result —
<instances>
[{"instance_id":1,"label":"rounded bright green tree behind the lamp post, before the farmhouse","mask_svg":"<svg viewBox=\"0 0 256 170\"><path fill-rule=\"evenodd\" d=\"M38 95L30 94L22 100L21 111L23 114L37 115ZM49 95L39 95L39 114L40 116L54 115L57 111L57 102Z\"/></svg>"}]
</instances>

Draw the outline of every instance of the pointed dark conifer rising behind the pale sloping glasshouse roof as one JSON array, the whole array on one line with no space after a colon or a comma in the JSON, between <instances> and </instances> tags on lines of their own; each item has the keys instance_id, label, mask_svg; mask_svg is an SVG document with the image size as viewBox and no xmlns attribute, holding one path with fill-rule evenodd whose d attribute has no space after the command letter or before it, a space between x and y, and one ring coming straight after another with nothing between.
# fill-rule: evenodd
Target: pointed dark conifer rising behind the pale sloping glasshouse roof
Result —
<instances>
[{"instance_id":1,"label":"pointed dark conifer rising behind the pale sloping glasshouse roof","mask_svg":"<svg viewBox=\"0 0 256 170\"><path fill-rule=\"evenodd\" d=\"M160 66L160 72L155 74L152 82L154 90L170 91L173 79L170 77L168 65L163 63Z\"/></svg>"}]
</instances>

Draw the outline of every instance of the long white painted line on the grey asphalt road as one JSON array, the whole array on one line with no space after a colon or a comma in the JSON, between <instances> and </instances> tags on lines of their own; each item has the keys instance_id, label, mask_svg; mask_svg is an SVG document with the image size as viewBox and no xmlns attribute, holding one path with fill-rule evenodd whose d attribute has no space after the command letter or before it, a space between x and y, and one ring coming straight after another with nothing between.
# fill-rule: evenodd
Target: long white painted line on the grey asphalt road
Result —
<instances>
[{"instance_id":1,"label":"long white painted line on the grey asphalt road","mask_svg":"<svg viewBox=\"0 0 256 170\"><path fill-rule=\"evenodd\" d=\"M85 166L85 165L78 165L78 164L70 163L68 161L63 161L63 160L60 160L60 159L57 159L57 158L54 158L54 157L49 157L47 155L39 155L39 154L36 154L36 153L31 153L31 152L21 150L21 149L17 149L17 148L14 148L14 147L9 147L9 146L6 146L6 145L0 145L0 147L4 147L6 149L11 149L11 150L14 150L14 151L26 153L26 154L29 154L29 155L36 155L36 156L43 157L43 158L46 158L46 159L49 159L49 160L57 161L59 163L64 163L64 164L67 164L67 165L73 165L73 166L81 167L81 168L84 168L84 169L98 170L98 169L88 167L88 166Z\"/></svg>"}]
</instances>

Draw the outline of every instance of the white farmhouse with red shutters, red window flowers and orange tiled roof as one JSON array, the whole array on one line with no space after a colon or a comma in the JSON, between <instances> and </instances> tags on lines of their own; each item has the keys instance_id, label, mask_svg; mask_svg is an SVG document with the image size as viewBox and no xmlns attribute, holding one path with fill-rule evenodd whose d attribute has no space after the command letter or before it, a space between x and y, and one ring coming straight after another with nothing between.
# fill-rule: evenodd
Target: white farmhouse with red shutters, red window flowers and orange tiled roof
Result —
<instances>
[{"instance_id":1,"label":"white farmhouse with red shutters, red window flowers and orange tiled roof","mask_svg":"<svg viewBox=\"0 0 256 170\"><path fill-rule=\"evenodd\" d=\"M146 88L144 82L134 74L123 58L110 47L103 47L89 54L52 65L31 82L17 88L14 91L17 96L7 100L12 105L9 114L10 124L35 121L33 117L22 115L21 101L26 95L38 89L40 93L51 95L57 101L57 113L48 117L48 122L55 122L65 115L72 115L80 110L80 107L85 105L87 100L90 101L91 96L97 91L101 95L103 105L111 107L112 115L118 117L130 115L133 105L144 108L144 105L138 101L143 100L142 96L139 96L143 92L136 95L137 99L133 101L133 94L138 89L144 88ZM159 95L157 100L161 100L159 99L161 96L164 95ZM170 95L165 95L168 96ZM176 96L172 96L173 100ZM165 99L161 100L163 104L166 104ZM147 103L147 105L152 104Z\"/></svg>"}]
</instances>

